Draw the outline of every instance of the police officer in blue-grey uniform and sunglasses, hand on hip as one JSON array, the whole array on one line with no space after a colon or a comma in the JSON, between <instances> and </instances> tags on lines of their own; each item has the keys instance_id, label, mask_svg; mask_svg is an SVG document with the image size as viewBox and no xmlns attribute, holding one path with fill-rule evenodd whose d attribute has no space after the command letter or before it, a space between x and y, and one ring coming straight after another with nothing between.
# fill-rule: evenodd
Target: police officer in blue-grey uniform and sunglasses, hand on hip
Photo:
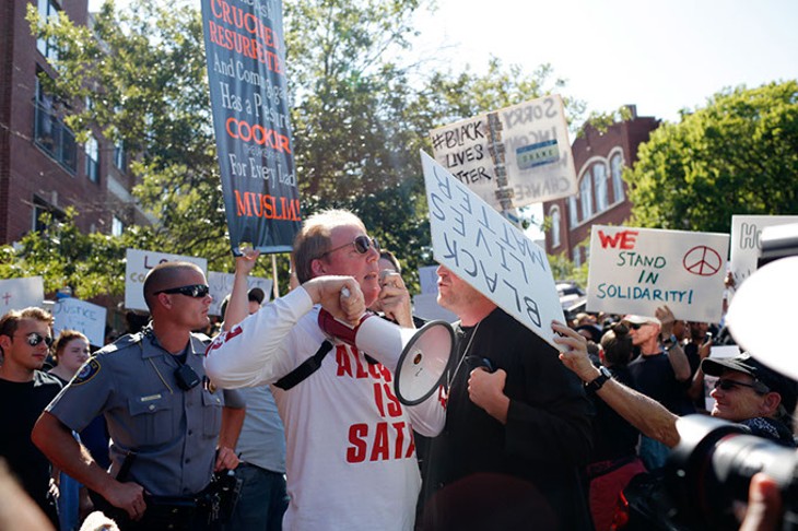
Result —
<instances>
[{"instance_id":1,"label":"police officer in blue-grey uniform and sunglasses, hand on hip","mask_svg":"<svg viewBox=\"0 0 798 531\"><path fill-rule=\"evenodd\" d=\"M222 393L204 376L203 337L191 333L208 324L204 274L192 263L161 263L144 280L144 299L152 322L90 358L36 423L33 440L101 495L107 512L124 509L115 515L122 529L214 529L212 473L238 461L231 448L216 449L220 429L239 429L244 410L235 391ZM108 472L71 435L101 413L113 439Z\"/></svg>"}]
</instances>

